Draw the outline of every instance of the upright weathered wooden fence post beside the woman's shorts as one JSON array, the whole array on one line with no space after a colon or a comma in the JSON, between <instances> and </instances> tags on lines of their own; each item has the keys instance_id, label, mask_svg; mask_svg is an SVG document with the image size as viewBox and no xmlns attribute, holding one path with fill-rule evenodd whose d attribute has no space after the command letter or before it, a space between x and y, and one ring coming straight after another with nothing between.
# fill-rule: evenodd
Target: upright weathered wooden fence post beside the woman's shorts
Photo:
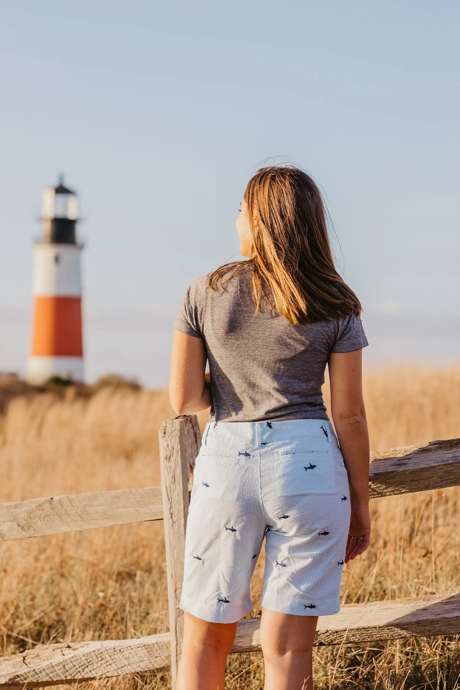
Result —
<instances>
[{"instance_id":1,"label":"upright weathered wooden fence post beside the woman's shorts","mask_svg":"<svg viewBox=\"0 0 460 690\"><path fill-rule=\"evenodd\" d=\"M182 651L183 558L186 546L188 482L201 445L197 415L165 420L159 431L161 491L168 575L168 606L171 635L172 690L176 687L177 665Z\"/></svg>"}]
</instances>

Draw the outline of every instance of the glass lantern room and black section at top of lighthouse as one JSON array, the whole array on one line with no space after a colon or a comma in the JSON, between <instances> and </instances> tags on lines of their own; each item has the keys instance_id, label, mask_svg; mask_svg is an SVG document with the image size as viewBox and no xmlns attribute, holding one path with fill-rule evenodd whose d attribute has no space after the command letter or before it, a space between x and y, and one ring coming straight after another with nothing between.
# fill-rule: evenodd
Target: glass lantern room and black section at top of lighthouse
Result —
<instances>
[{"instance_id":1,"label":"glass lantern room and black section at top of lighthouse","mask_svg":"<svg viewBox=\"0 0 460 690\"><path fill-rule=\"evenodd\" d=\"M63 182L61 175L57 187L46 187L41 190L41 242L77 244L75 225L78 220L78 198Z\"/></svg>"}]
</instances>

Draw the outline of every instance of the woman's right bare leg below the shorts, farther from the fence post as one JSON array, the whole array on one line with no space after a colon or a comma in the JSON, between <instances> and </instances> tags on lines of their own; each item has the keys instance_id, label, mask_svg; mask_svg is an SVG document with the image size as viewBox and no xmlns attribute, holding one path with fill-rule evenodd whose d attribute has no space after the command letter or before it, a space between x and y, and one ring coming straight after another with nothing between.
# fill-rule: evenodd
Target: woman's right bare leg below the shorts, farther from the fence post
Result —
<instances>
[{"instance_id":1,"label":"woman's right bare leg below the shorts, farther from the fence post","mask_svg":"<svg viewBox=\"0 0 460 690\"><path fill-rule=\"evenodd\" d=\"M262 609L264 690L312 690L312 647L318 618Z\"/></svg>"}]
</instances>

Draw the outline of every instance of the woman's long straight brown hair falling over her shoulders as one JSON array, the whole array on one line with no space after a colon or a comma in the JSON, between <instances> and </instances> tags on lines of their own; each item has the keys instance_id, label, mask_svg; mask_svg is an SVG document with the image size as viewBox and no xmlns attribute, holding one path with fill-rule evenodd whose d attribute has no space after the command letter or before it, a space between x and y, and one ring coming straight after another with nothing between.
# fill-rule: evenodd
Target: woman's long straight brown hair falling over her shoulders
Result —
<instances>
[{"instance_id":1,"label":"woman's long straight brown hair falling over her shoulders","mask_svg":"<svg viewBox=\"0 0 460 690\"><path fill-rule=\"evenodd\" d=\"M219 266L209 288L225 290L250 270L257 311L266 300L292 324L361 313L359 299L334 266L323 199L310 175L290 165L261 168L248 182L244 200L252 255Z\"/></svg>"}]
</instances>

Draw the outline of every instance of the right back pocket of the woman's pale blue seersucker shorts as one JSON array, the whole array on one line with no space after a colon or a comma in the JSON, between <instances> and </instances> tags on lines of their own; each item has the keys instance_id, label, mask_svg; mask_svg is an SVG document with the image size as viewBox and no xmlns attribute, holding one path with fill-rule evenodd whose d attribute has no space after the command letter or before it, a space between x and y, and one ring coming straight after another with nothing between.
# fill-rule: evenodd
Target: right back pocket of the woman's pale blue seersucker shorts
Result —
<instances>
[{"instance_id":1,"label":"right back pocket of the woman's pale blue seersucker shorts","mask_svg":"<svg viewBox=\"0 0 460 690\"><path fill-rule=\"evenodd\" d=\"M281 453L279 457L281 495L335 493L334 460L329 450Z\"/></svg>"}]
</instances>

